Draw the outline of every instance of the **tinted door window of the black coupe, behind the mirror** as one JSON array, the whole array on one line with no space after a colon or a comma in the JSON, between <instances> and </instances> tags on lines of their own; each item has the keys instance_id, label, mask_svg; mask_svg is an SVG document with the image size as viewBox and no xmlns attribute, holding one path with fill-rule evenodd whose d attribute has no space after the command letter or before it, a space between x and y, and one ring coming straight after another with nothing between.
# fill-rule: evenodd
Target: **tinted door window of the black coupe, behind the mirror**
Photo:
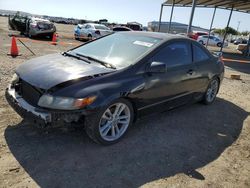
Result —
<instances>
[{"instance_id":1,"label":"tinted door window of the black coupe, behind the mirror","mask_svg":"<svg viewBox=\"0 0 250 188\"><path fill-rule=\"evenodd\" d=\"M186 42L175 42L162 48L153 61L164 62L168 67L192 63L191 45Z\"/></svg>"}]
</instances>

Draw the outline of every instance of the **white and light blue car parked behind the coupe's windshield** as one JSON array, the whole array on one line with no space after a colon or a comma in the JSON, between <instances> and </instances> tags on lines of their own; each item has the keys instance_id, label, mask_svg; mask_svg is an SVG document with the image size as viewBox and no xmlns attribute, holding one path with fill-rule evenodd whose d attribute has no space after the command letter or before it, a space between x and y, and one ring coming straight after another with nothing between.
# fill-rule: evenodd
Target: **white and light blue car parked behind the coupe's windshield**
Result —
<instances>
[{"instance_id":1,"label":"white and light blue car parked behind the coupe's windshield","mask_svg":"<svg viewBox=\"0 0 250 188\"><path fill-rule=\"evenodd\" d=\"M88 39L99 38L111 34L112 31L102 24L87 23L84 25L78 24L75 27L75 39Z\"/></svg>"}]
</instances>

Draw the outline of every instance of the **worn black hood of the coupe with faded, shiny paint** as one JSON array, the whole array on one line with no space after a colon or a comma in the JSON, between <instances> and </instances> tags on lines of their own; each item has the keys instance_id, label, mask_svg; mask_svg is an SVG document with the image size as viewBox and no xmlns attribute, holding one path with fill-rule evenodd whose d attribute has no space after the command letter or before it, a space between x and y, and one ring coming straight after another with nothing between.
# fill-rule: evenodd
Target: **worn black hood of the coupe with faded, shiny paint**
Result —
<instances>
[{"instance_id":1,"label":"worn black hood of the coupe with faded, shiny paint","mask_svg":"<svg viewBox=\"0 0 250 188\"><path fill-rule=\"evenodd\" d=\"M29 84L47 90L67 81L111 71L114 70L94 62L89 64L62 54L51 54L23 63L16 73Z\"/></svg>"}]
</instances>

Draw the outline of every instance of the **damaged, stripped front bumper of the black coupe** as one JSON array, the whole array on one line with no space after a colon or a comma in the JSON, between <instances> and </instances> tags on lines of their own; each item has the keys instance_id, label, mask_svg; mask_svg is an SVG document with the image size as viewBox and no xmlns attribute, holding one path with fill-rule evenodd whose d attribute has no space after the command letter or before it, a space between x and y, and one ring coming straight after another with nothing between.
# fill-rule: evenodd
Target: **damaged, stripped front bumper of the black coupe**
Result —
<instances>
[{"instance_id":1,"label":"damaged, stripped front bumper of the black coupe","mask_svg":"<svg viewBox=\"0 0 250 188\"><path fill-rule=\"evenodd\" d=\"M5 98L10 106L24 119L32 120L40 127L48 125L60 125L65 123L77 123L81 118L89 113L85 110L78 111L52 111L34 107L26 102L22 96L11 87L5 91Z\"/></svg>"}]
</instances>

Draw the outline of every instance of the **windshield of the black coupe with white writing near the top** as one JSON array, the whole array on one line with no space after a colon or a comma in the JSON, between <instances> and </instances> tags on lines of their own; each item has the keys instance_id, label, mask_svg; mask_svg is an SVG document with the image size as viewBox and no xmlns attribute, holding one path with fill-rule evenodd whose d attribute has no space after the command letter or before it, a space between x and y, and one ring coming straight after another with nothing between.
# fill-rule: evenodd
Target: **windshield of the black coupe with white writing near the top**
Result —
<instances>
[{"instance_id":1,"label":"windshield of the black coupe with white writing near the top","mask_svg":"<svg viewBox=\"0 0 250 188\"><path fill-rule=\"evenodd\" d=\"M124 68L152 50L161 39L137 34L116 33L85 44L72 52Z\"/></svg>"}]
</instances>

